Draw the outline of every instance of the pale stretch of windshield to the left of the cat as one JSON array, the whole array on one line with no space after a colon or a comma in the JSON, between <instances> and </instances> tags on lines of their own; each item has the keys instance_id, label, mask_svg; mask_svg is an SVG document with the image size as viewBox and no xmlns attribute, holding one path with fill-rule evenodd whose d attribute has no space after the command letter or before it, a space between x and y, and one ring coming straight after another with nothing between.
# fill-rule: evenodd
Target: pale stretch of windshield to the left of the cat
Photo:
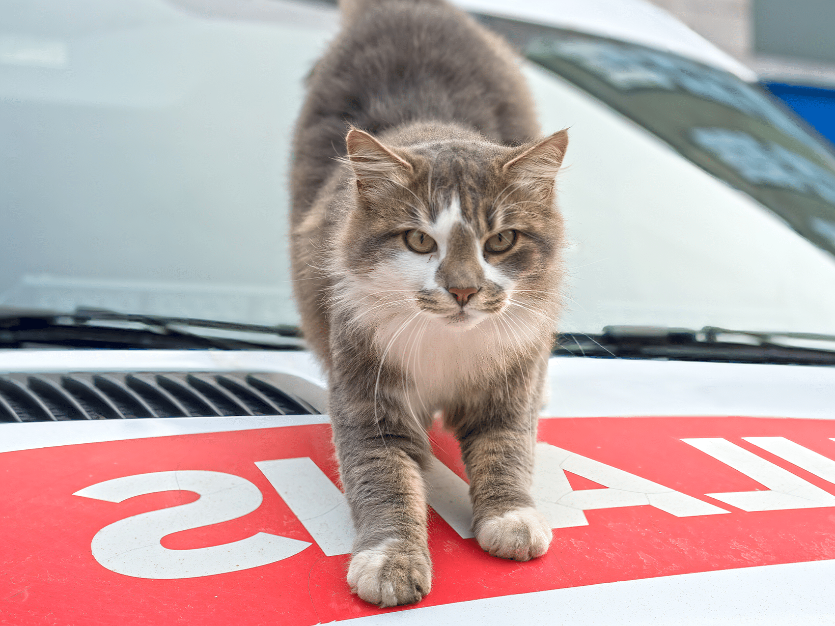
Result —
<instances>
[{"instance_id":1,"label":"pale stretch of windshield to the left of the cat","mask_svg":"<svg viewBox=\"0 0 835 626\"><path fill-rule=\"evenodd\" d=\"M0 305L296 323L290 144L337 14L191 4L3 8Z\"/></svg>"}]
</instances>

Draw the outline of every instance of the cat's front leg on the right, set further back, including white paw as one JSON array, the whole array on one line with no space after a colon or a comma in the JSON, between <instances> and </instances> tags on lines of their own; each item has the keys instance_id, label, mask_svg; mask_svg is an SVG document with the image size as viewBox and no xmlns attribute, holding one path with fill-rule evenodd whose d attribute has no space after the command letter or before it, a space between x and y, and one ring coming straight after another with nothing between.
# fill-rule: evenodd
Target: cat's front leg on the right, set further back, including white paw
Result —
<instances>
[{"instance_id":1,"label":"cat's front leg on the right, set further back, including white paw","mask_svg":"<svg viewBox=\"0 0 835 626\"><path fill-rule=\"evenodd\" d=\"M553 533L530 496L533 411L489 402L468 417L456 430L470 479L478 545L493 556L517 561L542 556Z\"/></svg>"}]
</instances>

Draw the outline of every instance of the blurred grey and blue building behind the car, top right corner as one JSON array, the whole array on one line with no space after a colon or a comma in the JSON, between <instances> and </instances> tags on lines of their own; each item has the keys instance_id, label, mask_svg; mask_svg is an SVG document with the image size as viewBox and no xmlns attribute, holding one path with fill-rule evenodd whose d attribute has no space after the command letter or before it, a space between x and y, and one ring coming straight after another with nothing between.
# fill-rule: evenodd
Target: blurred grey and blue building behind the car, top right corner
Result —
<instances>
[{"instance_id":1,"label":"blurred grey and blue building behind the car, top right corner","mask_svg":"<svg viewBox=\"0 0 835 626\"><path fill-rule=\"evenodd\" d=\"M746 63L835 143L835 0L650 0Z\"/></svg>"}]
</instances>

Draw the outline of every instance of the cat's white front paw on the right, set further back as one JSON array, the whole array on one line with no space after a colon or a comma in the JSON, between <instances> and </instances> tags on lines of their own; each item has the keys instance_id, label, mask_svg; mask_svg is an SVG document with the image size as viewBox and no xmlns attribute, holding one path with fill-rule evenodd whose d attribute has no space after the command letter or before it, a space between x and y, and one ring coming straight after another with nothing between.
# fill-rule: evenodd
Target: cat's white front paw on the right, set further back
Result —
<instances>
[{"instance_id":1,"label":"cat's white front paw on the right, set further back","mask_svg":"<svg viewBox=\"0 0 835 626\"><path fill-rule=\"evenodd\" d=\"M534 507L514 508L478 523L478 545L493 557L529 561L548 552L553 537L545 517Z\"/></svg>"}]
</instances>

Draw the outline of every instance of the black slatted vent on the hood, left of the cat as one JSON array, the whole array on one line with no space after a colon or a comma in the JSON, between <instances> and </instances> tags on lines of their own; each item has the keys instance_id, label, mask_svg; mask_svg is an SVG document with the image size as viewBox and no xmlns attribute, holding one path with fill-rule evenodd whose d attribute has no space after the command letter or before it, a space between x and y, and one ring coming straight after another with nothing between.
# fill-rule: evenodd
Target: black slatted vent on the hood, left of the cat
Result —
<instances>
[{"instance_id":1,"label":"black slatted vent on the hood, left of the cat","mask_svg":"<svg viewBox=\"0 0 835 626\"><path fill-rule=\"evenodd\" d=\"M136 417L316 415L325 392L261 372L75 372L0 375L0 422Z\"/></svg>"}]
</instances>

